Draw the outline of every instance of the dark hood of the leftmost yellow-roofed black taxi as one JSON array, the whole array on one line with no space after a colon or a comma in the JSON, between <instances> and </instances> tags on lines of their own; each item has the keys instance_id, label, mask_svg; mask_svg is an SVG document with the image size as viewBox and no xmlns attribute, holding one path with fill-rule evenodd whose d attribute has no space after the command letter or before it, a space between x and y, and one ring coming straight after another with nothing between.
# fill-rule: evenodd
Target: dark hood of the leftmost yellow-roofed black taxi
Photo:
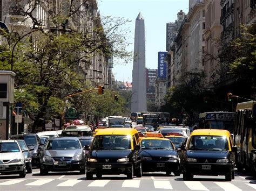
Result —
<instances>
[{"instance_id":1,"label":"dark hood of the leftmost yellow-roofed black taxi","mask_svg":"<svg viewBox=\"0 0 256 191\"><path fill-rule=\"evenodd\" d=\"M129 157L131 150L92 150L90 155L98 159L116 159Z\"/></svg>"}]
</instances>

